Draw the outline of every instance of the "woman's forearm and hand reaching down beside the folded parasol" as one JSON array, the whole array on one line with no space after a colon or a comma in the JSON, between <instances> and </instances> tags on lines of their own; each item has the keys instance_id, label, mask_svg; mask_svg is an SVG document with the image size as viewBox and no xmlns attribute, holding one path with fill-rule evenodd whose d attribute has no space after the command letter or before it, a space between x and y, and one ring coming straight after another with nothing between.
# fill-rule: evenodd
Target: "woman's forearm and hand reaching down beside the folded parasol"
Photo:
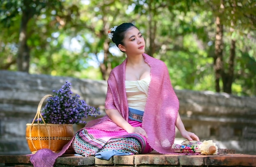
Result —
<instances>
[{"instance_id":1,"label":"woman's forearm and hand reaching down beside the folded parasol","mask_svg":"<svg viewBox=\"0 0 256 167\"><path fill-rule=\"evenodd\" d=\"M194 133L186 131L184 124L182 123L182 120L180 118L179 112L177 113L175 125L180 131L180 134L182 137L187 138L189 141L192 141L192 140L200 141L198 136L196 136Z\"/></svg>"}]
</instances>

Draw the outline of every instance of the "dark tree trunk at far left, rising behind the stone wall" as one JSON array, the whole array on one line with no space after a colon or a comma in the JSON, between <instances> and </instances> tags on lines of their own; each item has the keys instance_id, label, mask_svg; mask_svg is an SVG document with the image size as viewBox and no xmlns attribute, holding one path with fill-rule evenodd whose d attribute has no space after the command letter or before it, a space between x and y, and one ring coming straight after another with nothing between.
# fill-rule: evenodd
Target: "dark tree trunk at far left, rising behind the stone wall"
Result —
<instances>
[{"instance_id":1,"label":"dark tree trunk at far left, rising behind the stone wall","mask_svg":"<svg viewBox=\"0 0 256 167\"><path fill-rule=\"evenodd\" d=\"M18 71L29 73L29 47L27 46L27 23L31 15L28 11L22 11L20 22L19 45L17 54Z\"/></svg>"}]
</instances>

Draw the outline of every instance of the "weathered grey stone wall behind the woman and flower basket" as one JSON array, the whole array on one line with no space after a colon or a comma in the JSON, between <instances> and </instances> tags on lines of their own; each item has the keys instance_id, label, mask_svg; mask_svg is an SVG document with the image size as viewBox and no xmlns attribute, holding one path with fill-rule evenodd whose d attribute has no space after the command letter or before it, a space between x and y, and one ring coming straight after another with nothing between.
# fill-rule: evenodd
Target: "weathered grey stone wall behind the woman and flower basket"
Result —
<instances>
[{"instance_id":1,"label":"weathered grey stone wall behind the woman and flower basket","mask_svg":"<svg viewBox=\"0 0 256 167\"><path fill-rule=\"evenodd\" d=\"M30 153L25 139L26 123L31 123L34 118L40 99L45 94L52 94L52 90L58 90L65 81L72 83L72 91L86 103L99 107L100 116L104 115L106 81L0 70L0 154ZM256 154L255 97L208 91L175 92L186 129L197 134L201 141L213 139L220 148ZM83 125L74 125L74 130L81 127ZM176 137L176 141L183 140L178 131Z\"/></svg>"}]
</instances>

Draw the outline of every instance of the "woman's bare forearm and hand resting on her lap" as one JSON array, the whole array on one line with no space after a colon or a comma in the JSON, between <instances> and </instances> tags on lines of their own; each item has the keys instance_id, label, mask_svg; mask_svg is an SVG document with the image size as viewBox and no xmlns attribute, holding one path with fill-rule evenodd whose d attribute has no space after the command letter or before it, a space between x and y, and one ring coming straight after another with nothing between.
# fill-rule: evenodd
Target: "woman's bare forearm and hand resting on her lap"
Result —
<instances>
[{"instance_id":1,"label":"woman's bare forearm and hand resting on her lap","mask_svg":"<svg viewBox=\"0 0 256 167\"><path fill-rule=\"evenodd\" d=\"M130 125L117 110L106 109L106 114L115 124L117 124L122 129L126 130L126 132L139 133L147 137L147 134L144 129L142 129L141 127L132 127L132 125Z\"/></svg>"}]
</instances>

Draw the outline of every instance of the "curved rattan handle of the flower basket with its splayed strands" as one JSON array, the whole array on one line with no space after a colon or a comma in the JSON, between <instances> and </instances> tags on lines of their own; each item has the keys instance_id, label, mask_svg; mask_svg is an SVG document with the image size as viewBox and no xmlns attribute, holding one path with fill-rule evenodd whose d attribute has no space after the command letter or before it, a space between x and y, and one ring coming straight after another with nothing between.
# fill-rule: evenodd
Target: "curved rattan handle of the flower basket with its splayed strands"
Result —
<instances>
[{"instance_id":1,"label":"curved rattan handle of the flower basket with its splayed strands","mask_svg":"<svg viewBox=\"0 0 256 167\"><path fill-rule=\"evenodd\" d=\"M45 95L45 96L40 100L40 102L39 102L39 104L38 104L38 107L37 107L36 116L34 117L32 123L31 123L31 128L30 128L29 136L30 136L30 138L31 138L31 130L32 130L33 124L34 124L34 122L35 122L35 120L36 120L36 117L37 117L38 138L39 138L39 143L40 143L40 145L41 145L40 132L39 132L39 117L40 117L40 118L42 119L43 123L45 124L45 127L46 127L47 132L48 132L48 136L49 136L49 148L50 148L50 145L51 145L50 132L49 132L49 129L48 129L48 127L46 126L45 120L43 119L43 116L42 116L42 114L41 114L41 108L42 108L43 102L45 101L45 99L46 99L47 97L52 97L52 95L51 95L51 94L47 94L47 95ZM31 143L32 143L34 149L37 151L37 149L36 149L36 147L35 147L35 145L34 145L34 143L33 143L32 138L31 138Z\"/></svg>"}]
</instances>

